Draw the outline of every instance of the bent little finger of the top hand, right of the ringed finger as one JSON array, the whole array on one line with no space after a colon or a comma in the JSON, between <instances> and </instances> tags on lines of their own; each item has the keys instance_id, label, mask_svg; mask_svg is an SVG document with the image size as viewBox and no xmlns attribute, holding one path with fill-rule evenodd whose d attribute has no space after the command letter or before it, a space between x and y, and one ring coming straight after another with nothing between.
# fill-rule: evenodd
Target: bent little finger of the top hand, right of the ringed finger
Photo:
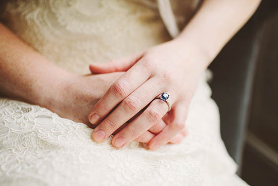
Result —
<instances>
[{"instance_id":1,"label":"bent little finger of the top hand, right of the ringed finger","mask_svg":"<svg viewBox=\"0 0 278 186\"><path fill-rule=\"evenodd\" d=\"M168 143L183 128L187 118L187 104L178 103L172 108L172 122L169 123L149 144L150 150L157 150L161 145Z\"/></svg>"}]
</instances>

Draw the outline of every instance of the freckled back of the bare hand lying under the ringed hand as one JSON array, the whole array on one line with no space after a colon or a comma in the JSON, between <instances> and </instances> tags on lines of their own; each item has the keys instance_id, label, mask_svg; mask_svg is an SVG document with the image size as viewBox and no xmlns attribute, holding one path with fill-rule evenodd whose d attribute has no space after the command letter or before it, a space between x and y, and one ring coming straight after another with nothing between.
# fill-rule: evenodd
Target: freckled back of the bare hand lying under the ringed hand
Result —
<instances>
[{"instance_id":1,"label":"freckled back of the bare hand lying under the ringed hand","mask_svg":"<svg viewBox=\"0 0 278 186\"><path fill-rule=\"evenodd\" d=\"M61 87L58 88L56 97L53 97L52 101L44 106L60 117L81 122L93 128L94 126L88 121L90 108L123 74L124 72L85 76L70 74L65 79L66 81L60 84Z\"/></svg>"}]
</instances>

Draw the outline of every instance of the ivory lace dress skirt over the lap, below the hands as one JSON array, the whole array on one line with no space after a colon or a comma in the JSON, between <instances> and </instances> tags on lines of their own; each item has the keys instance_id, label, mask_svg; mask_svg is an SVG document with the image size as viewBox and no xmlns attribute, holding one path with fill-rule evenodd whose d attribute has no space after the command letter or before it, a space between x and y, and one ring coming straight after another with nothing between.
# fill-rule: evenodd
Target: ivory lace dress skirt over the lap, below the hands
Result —
<instances>
[{"instance_id":1,"label":"ivory lace dress skirt over the lap, below the hands","mask_svg":"<svg viewBox=\"0 0 278 186\"><path fill-rule=\"evenodd\" d=\"M189 135L180 144L167 144L157 151L148 151L135 141L121 150L110 144L111 138L96 143L85 124L37 105L0 98L0 180L16 184L28 179L28 185L65 181L200 185L207 182L204 172L232 175L236 167L220 139L217 105L208 85L200 84L186 122Z\"/></svg>"}]
</instances>

